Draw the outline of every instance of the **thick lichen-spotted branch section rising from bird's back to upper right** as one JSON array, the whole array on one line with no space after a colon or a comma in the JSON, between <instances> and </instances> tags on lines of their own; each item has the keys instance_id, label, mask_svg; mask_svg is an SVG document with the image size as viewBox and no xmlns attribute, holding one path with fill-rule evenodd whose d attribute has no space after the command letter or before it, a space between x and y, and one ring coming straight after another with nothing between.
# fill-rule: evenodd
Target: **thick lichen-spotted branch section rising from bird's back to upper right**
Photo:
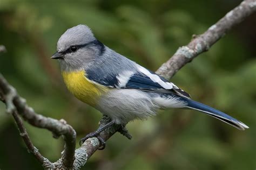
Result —
<instances>
[{"instance_id":1,"label":"thick lichen-spotted branch section rising from bird's back to upper right","mask_svg":"<svg viewBox=\"0 0 256 170\"><path fill-rule=\"evenodd\" d=\"M256 11L255 0L245 0L235 9L228 12L216 24L199 36L193 36L192 41L179 47L167 62L163 63L156 73L170 79L178 70L192 61L197 55L206 52L215 42L224 37L227 31L241 23L246 17Z\"/></svg>"}]
</instances>

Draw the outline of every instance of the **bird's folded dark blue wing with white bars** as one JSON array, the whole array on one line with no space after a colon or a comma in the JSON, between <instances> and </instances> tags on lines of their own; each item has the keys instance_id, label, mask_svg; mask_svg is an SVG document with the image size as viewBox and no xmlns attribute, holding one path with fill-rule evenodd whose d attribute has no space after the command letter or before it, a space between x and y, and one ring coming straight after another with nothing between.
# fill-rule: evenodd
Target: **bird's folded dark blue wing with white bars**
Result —
<instances>
[{"instance_id":1,"label":"bird's folded dark blue wing with white bars","mask_svg":"<svg viewBox=\"0 0 256 170\"><path fill-rule=\"evenodd\" d=\"M87 78L110 88L139 89L154 93L177 94L190 98L188 93L178 88L172 82L139 65L138 70L124 70L117 75L105 74L103 77L93 75L94 74L87 75Z\"/></svg>"}]
</instances>

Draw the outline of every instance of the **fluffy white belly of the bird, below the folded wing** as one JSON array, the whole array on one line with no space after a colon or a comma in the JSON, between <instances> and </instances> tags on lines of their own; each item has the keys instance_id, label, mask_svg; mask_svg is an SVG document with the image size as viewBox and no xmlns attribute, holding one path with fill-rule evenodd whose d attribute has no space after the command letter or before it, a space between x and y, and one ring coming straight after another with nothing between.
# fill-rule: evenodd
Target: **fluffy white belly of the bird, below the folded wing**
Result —
<instances>
[{"instance_id":1,"label":"fluffy white belly of the bird, below the folded wing","mask_svg":"<svg viewBox=\"0 0 256 170\"><path fill-rule=\"evenodd\" d=\"M151 97L134 89L112 89L100 98L96 108L117 124L156 115L159 108Z\"/></svg>"}]
</instances>

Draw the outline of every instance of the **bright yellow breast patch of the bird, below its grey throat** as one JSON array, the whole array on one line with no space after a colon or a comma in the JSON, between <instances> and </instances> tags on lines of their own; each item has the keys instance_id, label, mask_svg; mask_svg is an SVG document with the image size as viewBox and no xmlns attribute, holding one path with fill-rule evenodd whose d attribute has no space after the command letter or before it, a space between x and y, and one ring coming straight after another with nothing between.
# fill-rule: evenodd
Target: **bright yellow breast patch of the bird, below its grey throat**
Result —
<instances>
[{"instance_id":1,"label":"bright yellow breast patch of the bird, below its grey throat","mask_svg":"<svg viewBox=\"0 0 256 170\"><path fill-rule=\"evenodd\" d=\"M84 70L62 72L62 76L69 91L80 101L92 106L95 106L99 97L108 91L108 88L87 79Z\"/></svg>"}]
</instances>

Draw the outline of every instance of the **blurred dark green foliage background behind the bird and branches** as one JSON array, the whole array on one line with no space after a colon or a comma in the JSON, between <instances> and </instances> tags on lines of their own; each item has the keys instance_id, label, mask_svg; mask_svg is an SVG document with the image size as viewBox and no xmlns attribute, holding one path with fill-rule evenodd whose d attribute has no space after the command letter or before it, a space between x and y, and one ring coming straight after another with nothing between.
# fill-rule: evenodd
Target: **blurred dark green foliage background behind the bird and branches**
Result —
<instances>
[{"instance_id":1,"label":"blurred dark green foliage background behind the bird and branches","mask_svg":"<svg viewBox=\"0 0 256 170\"><path fill-rule=\"evenodd\" d=\"M0 72L36 112L64 118L77 139L97 128L101 114L65 88L56 42L69 27L86 24L105 45L156 70L192 34L207 30L240 1L11 1L0 0ZM161 111L127 125L127 140L115 134L87 169L255 169L256 15L235 27L172 79L194 100L250 126L239 131L191 110ZM45 157L56 161L63 140L26 128ZM78 144L77 144L78 146ZM26 151L15 123L0 103L0 169L42 169Z\"/></svg>"}]
</instances>

